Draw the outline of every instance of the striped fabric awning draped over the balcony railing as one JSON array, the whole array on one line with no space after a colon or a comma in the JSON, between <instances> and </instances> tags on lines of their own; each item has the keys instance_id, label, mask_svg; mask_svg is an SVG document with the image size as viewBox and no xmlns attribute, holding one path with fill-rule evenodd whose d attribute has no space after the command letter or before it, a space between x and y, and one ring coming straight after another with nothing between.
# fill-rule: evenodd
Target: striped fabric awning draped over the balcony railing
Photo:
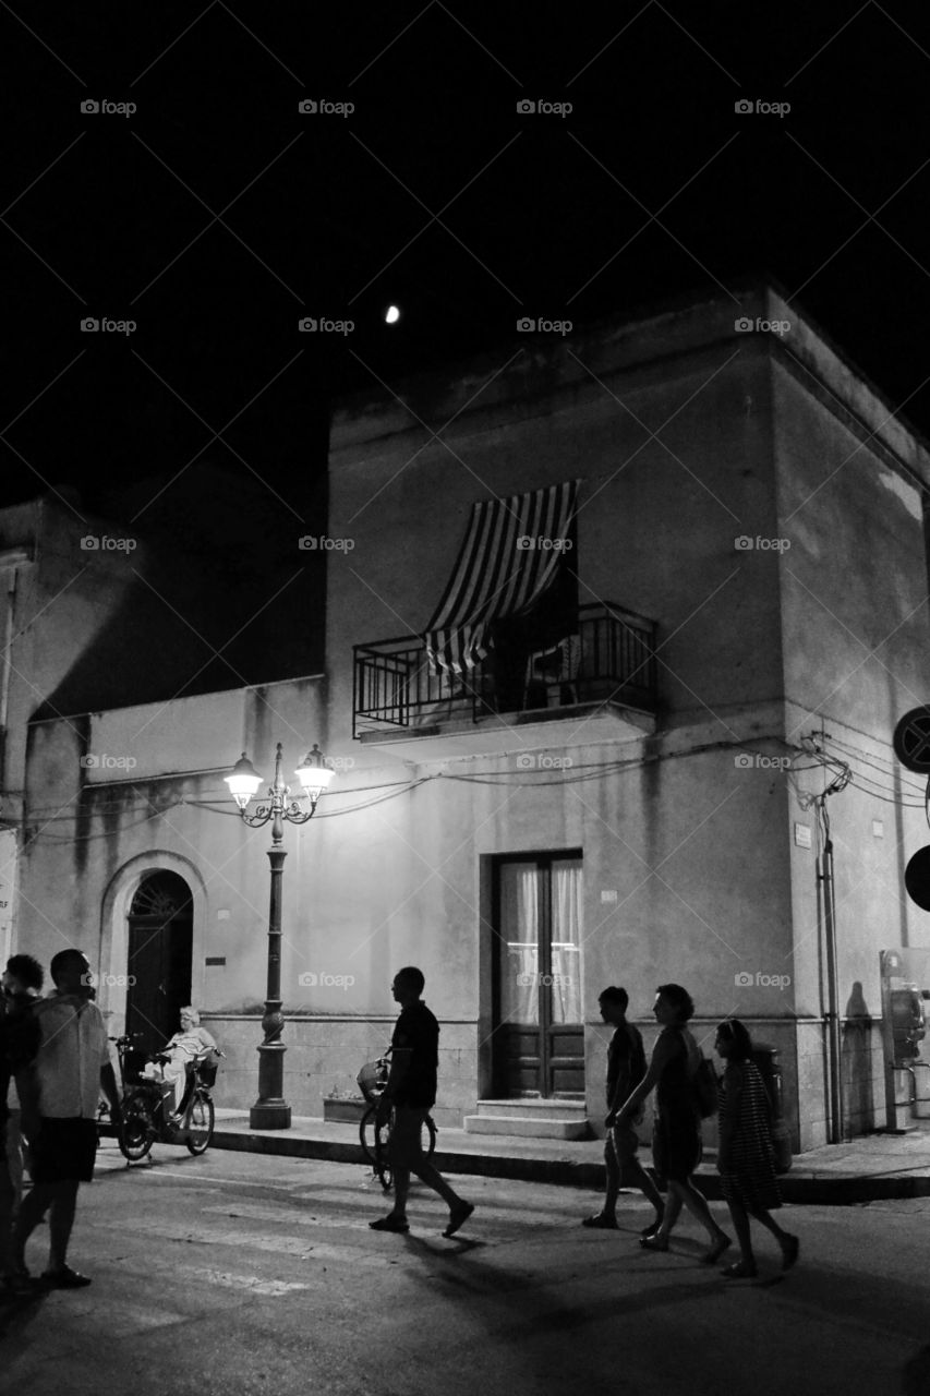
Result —
<instances>
[{"instance_id":1,"label":"striped fabric awning draped over the balcony railing","mask_svg":"<svg viewBox=\"0 0 930 1396\"><path fill-rule=\"evenodd\" d=\"M528 611L570 544L577 480L475 504L445 595L426 627L433 673L461 674L487 653L493 621Z\"/></svg>"}]
</instances>

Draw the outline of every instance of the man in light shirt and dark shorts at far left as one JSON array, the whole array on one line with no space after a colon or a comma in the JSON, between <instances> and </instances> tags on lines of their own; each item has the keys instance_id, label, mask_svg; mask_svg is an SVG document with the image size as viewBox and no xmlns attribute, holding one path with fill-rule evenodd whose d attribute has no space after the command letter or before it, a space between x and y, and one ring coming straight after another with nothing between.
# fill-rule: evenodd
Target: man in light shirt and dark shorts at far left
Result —
<instances>
[{"instance_id":1,"label":"man in light shirt and dark shorts at far left","mask_svg":"<svg viewBox=\"0 0 930 1396\"><path fill-rule=\"evenodd\" d=\"M78 1184L94 1177L101 1086L110 1118L121 1122L120 1093L109 1058L106 1026L94 1002L91 966L81 951L60 951L49 966L54 993L36 1004L40 1041L22 1099L22 1128L32 1146L32 1191L14 1227L14 1263L28 1276L25 1245L49 1213L47 1286L74 1290L91 1280L67 1263Z\"/></svg>"}]
</instances>

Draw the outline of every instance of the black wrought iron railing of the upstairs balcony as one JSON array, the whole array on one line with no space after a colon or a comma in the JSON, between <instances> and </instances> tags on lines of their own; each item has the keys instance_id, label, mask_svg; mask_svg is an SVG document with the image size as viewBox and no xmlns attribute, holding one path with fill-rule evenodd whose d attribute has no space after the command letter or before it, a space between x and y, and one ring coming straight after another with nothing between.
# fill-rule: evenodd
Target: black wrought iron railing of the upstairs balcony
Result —
<instances>
[{"instance_id":1,"label":"black wrought iron railing of the upstairs balcony","mask_svg":"<svg viewBox=\"0 0 930 1396\"><path fill-rule=\"evenodd\" d=\"M550 649L492 651L466 674L433 674L418 635L355 646L355 737L589 702L655 711L654 621L610 603L582 606L574 632Z\"/></svg>"}]
</instances>

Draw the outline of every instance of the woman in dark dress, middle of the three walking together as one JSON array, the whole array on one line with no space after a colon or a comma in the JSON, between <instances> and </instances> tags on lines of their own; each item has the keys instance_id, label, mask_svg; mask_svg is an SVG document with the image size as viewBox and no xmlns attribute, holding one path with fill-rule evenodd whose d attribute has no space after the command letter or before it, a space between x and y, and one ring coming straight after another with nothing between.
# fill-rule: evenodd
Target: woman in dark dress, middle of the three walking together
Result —
<instances>
[{"instance_id":1,"label":"woman in dark dress, middle of the three walking together","mask_svg":"<svg viewBox=\"0 0 930 1396\"><path fill-rule=\"evenodd\" d=\"M694 1092L701 1048L684 1026L694 1015L694 1002L680 984L660 984L654 1012L662 1032L649 1069L617 1111L619 1125L633 1118L655 1086L652 1159L659 1187L667 1185L669 1195L662 1226L655 1235L641 1237L640 1245L647 1251L667 1251L669 1235L684 1206L708 1233L711 1248L701 1259L714 1265L732 1242L711 1216L707 1198L691 1177L701 1161L701 1115Z\"/></svg>"}]
</instances>

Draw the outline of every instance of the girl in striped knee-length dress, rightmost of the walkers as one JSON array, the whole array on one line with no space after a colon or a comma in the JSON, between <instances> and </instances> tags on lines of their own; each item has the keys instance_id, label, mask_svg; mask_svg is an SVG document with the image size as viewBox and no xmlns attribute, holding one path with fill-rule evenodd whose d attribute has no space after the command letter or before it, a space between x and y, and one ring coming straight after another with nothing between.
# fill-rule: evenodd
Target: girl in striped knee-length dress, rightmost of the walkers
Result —
<instances>
[{"instance_id":1,"label":"girl in striped knee-length dress, rightmost of the walkers","mask_svg":"<svg viewBox=\"0 0 930 1396\"><path fill-rule=\"evenodd\" d=\"M728 1280L751 1280L755 1277L755 1256L750 1217L761 1222L781 1245L783 1270L797 1259L799 1241L771 1216L781 1208L782 1199L768 1131L769 1101L753 1061L750 1034L739 1018L721 1023L715 1047L726 1062L721 1083L718 1168L741 1251L741 1258L721 1273Z\"/></svg>"}]
</instances>

